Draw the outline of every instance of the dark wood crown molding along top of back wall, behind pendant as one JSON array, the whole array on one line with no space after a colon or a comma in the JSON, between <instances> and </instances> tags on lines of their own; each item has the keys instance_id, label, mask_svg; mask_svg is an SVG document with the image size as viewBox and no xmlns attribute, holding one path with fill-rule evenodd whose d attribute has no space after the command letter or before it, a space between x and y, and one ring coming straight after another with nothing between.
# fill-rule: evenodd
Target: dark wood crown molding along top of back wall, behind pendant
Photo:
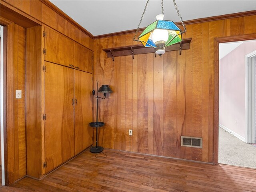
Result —
<instances>
[{"instance_id":1,"label":"dark wood crown molding along top of back wall, behind pendant","mask_svg":"<svg viewBox=\"0 0 256 192\"><path fill-rule=\"evenodd\" d=\"M230 19L230 18L236 18L236 17L251 16L251 15L256 15L256 10L188 20L188 21L184 21L184 24L190 25L190 24L196 24L196 23L211 22L211 21L216 21L216 20L223 20L223 19ZM175 24L177 26L182 26L181 22L176 22ZM142 32L142 31L144 31L144 29L145 28L140 28L138 30L138 32ZM94 36L94 39L107 38L107 37L113 37L113 36L119 36L119 35L131 34L131 33L136 33L136 29L121 31L121 32L116 32L116 33L97 35L97 36Z\"/></svg>"}]
</instances>

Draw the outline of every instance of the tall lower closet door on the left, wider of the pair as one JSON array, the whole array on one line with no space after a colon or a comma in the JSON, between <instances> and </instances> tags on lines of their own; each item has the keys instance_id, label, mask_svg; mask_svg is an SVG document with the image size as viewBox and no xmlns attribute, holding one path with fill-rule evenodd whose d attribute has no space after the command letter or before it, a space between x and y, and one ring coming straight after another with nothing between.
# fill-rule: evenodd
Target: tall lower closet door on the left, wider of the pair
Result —
<instances>
[{"instance_id":1,"label":"tall lower closet door on the left, wider of the pair","mask_svg":"<svg viewBox=\"0 0 256 192\"><path fill-rule=\"evenodd\" d=\"M74 70L45 62L46 172L74 156Z\"/></svg>"}]
</instances>

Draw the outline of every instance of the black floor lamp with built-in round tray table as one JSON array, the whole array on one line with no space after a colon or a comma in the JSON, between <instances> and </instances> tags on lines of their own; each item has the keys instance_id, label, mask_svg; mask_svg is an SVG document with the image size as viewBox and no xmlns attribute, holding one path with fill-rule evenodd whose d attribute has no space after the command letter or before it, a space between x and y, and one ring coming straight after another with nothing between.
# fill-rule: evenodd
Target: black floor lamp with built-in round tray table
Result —
<instances>
[{"instance_id":1,"label":"black floor lamp with built-in round tray table","mask_svg":"<svg viewBox=\"0 0 256 192\"><path fill-rule=\"evenodd\" d=\"M99 89L98 89L98 80L97 80L97 96L95 95L95 90L92 90L92 95L94 98L97 98L97 107L96 107L96 122L91 122L89 124L89 126L91 127L96 127L96 146L95 147L91 147L90 148L90 152L92 153L100 153L103 151L103 147L98 146L98 127L102 127L104 126L104 122L98 122L98 100L99 98L101 99L105 99L107 96L107 93L112 93L113 91L111 90L111 88L108 85L102 85ZM99 97L98 96L98 92L101 92L104 94L104 98Z\"/></svg>"}]
</instances>

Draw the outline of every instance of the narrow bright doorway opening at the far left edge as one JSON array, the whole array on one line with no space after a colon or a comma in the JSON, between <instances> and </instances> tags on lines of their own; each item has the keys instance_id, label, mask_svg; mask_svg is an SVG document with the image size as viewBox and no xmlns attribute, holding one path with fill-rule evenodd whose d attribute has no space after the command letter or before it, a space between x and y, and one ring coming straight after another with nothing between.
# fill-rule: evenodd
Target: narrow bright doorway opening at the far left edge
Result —
<instances>
[{"instance_id":1,"label":"narrow bright doorway opening at the far left edge","mask_svg":"<svg viewBox=\"0 0 256 192\"><path fill-rule=\"evenodd\" d=\"M5 185L4 176L4 27L0 26L0 186Z\"/></svg>"}]
</instances>

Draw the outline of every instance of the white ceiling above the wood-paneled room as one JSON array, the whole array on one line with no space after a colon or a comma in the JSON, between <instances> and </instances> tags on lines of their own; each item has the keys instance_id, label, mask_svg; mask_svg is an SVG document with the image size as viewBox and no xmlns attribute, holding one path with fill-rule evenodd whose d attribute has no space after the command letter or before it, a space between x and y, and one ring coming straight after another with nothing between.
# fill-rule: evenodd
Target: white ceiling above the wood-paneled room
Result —
<instances>
[{"instance_id":1,"label":"white ceiling above the wood-paneled room","mask_svg":"<svg viewBox=\"0 0 256 192\"><path fill-rule=\"evenodd\" d=\"M146 0L50 0L92 35L138 27ZM256 10L256 0L176 0L184 21ZM141 28L162 13L161 0L150 0ZM164 0L164 19L179 22L172 0Z\"/></svg>"}]
</instances>

